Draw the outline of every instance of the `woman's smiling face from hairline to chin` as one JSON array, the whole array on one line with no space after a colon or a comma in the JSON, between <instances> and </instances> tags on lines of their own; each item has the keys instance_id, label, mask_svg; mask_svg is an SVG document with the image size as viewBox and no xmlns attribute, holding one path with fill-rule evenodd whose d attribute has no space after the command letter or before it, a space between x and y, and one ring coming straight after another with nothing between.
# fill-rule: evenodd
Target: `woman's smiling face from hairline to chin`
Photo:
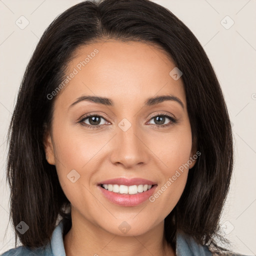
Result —
<instances>
[{"instance_id":1,"label":"woman's smiling face from hairline to chin","mask_svg":"<svg viewBox=\"0 0 256 256\"><path fill-rule=\"evenodd\" d=\"M176 205L195 150L182 80L169 74L174 67L163 50L143 42L76 50L45 139L72 217L139 235Z\"/></svg>"}]
</instances>

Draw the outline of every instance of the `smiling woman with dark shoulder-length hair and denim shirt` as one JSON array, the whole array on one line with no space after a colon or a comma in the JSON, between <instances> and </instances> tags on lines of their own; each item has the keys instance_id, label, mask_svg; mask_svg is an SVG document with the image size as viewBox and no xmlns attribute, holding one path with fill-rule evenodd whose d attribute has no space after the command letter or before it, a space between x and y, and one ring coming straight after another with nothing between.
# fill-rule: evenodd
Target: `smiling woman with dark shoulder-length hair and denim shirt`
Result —
<instances>
[{"instance_id":1,"label":"smiling woman with dark shoulder-length hair and denim shirt","mask_svg":"<svg viewBox=\"0 0 256 256\"><path fill-rule=\"evenodd\" d=\"M23 246L3 255L221 255L232 165L192 32L148 0L81 2L45 30L22 80L7 170Z\"/></svg>"}]
</instances>

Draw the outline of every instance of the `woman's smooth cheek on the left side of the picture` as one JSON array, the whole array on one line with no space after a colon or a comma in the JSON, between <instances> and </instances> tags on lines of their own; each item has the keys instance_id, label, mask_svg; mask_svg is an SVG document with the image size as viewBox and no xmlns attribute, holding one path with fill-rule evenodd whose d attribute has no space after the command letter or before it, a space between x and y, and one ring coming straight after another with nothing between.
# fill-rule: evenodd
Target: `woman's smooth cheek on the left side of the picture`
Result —
<instances>
[{"instance_id":1,"label":"woman's smooth cheek on the left side of the picture","mask_svg":"<svg viewBox=\"0 0 256 256\"><path fill-rule=\"evenodd\" d=\"M81 200L85 205L94 203L89 191L91 177L98 170L101 148L109 141L103 132L88 133L67 124L55 125L53 130L58 179L66 197L77 207Z\"/></svg>"}]
</instances>

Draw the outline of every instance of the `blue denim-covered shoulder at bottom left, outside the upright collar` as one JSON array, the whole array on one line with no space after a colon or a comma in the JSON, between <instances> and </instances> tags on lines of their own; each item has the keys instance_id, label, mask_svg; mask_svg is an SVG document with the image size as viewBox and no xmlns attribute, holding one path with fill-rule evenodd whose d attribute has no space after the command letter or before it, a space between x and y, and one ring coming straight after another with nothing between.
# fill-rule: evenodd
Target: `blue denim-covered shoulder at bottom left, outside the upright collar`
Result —
<instances>
[{"instance_id":1,"label":"blue denim-covered shoulder at bottom left, outside the upright collar","mask_svg":"<svg viewBox=\"0 0 256 256\"><path fill-rule=\"evenodd\" d=\"M25 246L18 246L16 248L5 251L0 256L51 256L53 255L49 246L39 247L36 249L30 249Z\"/></svg>"}]
</instances>

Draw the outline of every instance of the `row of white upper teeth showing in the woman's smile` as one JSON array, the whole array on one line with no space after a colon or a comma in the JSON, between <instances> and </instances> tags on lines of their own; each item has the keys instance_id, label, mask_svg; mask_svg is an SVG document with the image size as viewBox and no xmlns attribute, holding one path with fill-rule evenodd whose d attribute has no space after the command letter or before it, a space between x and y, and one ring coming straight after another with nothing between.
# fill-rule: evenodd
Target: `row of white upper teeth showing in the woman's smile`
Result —
<instances>
[{"instance_id":1,"label":"row of white upper teeth showing in the woman's smile","mask_svg":"<svg viewBox=\"0 0 256 256\"><path fill-rule=\"evenodd\" d=\"M112 184L102 184L102 187L107 189L108 191L113 191L115 193L120 193L120 194L136 194L136 193L141 193L143 191L146 191L152 187L152 185L147 185L147 184L141 184L141 185L131 185L131 186L126 186L126 185L112 185Z\"/></svg>"}]
</instances>

